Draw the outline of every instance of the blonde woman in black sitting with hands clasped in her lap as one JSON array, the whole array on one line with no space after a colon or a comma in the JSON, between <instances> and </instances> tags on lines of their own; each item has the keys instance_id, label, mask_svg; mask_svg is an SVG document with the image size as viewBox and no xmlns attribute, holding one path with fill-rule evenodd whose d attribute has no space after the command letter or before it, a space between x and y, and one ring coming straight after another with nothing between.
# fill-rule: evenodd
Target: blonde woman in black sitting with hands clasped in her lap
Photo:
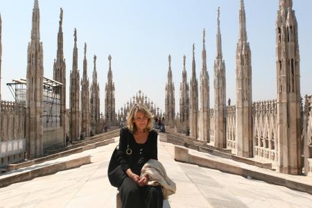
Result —
<instances>
[{"instance_id":1,"label":"blonde woman in black sitting with hands clasped in her lap","mask_svg":"<svg viewBox=\"0 0 312 208\"><path fill-rule=\"evenodd\" d=\"M117 152L121 168L127 175L119 187L122 207L162 208L162 187L149 186L148 175L139 176L149 159L157 160L157 132L153 130L153 116L144 105L135 104L128 114L127 125L121 130Z\"/></svg>"}]
</instances>

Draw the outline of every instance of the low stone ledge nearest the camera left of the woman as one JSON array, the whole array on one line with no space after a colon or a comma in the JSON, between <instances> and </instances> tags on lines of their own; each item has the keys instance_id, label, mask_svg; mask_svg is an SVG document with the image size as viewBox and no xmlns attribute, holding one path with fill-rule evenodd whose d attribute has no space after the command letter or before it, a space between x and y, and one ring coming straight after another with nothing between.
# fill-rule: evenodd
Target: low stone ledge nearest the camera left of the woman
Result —
<instances>
[{"instance_id":1,"label":"low stone ledge nearest the camera left of the woman","mask_svg":"<svg viewBox=\"0 0 312 208\"><path fill-rule=\"evenodd\" d=\"M51 164L48 166L43 166L40 168L35 168L31 171L25 171L24 173L17 173L15 175L7 175L0 178L0 187L5 187L13 183L22 182L24 180L31 180L35 177L40 177L44 175L50 175L57 173L58 171L64 171L70 168L76 168L84 164L89 164L91 162L91 156L83 156L75 159L71 159L65 162L58 162L56 164Z\"/></svg>"}]
</instances>

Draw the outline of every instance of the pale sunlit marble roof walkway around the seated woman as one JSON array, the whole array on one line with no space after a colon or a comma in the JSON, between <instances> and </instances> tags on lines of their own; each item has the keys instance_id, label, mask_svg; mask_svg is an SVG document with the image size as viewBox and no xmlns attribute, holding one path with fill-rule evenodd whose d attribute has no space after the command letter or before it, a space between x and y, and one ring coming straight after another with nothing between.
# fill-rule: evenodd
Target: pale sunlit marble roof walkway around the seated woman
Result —
<instances>
[{"instance_id":1,"label":"pale sunlit marble roof walkway around the seated woman","mask_svg":"<svg viewBox=\"0 0 312 208\"><path fill-rule=\"evenodd\" d=\"M91 164L1 188L0 207L116 207L116 189L107 179L116 144L68 156L91 155ZM312 207L309 193L175 162L174 146L158 145L159 161L177 184L164 207Z\"/></svg>"}]
</instances>

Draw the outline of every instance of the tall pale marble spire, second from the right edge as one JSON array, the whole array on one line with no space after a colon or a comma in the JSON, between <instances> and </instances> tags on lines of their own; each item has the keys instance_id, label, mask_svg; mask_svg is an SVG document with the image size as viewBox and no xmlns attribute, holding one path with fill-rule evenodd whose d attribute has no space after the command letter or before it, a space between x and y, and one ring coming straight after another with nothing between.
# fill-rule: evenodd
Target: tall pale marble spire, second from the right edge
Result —
<instances>
[{"instance_id":1,"label":"tall pale marble spire, second from the right edge","mask_svg":"<svg viewBox=\"0 0 312 208\"><path fill-rule=\"evenodd\" d=\"M236 139L237 155L252 157L252 65L247 42L244 1L239 8L239 41L236 44Z\"/></svg>"}]
</instances>

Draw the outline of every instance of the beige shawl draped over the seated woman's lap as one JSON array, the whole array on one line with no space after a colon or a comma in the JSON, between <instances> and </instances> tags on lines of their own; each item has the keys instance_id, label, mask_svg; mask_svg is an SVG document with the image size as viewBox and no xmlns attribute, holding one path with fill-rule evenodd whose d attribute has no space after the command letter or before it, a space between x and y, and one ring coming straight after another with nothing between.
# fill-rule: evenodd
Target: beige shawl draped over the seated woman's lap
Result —
<instances>
[{"instance_id":1,"label":"beige shawl draped over the seated woman's lap","mask_svg":"<svg viewBox=\"0 0 312 208\"><path fill-rule=\"evenodd\" d=\"M146 164L144 164L141 170L141 177L148 175L148 185L150 186L162 186L162 193L164 194L164 199L168 199L168 196L175 193L176 187L175 182L173 182L167 175L166 170L162 164L156 159L149 159Z\"/></svg>"}]
</instances>

